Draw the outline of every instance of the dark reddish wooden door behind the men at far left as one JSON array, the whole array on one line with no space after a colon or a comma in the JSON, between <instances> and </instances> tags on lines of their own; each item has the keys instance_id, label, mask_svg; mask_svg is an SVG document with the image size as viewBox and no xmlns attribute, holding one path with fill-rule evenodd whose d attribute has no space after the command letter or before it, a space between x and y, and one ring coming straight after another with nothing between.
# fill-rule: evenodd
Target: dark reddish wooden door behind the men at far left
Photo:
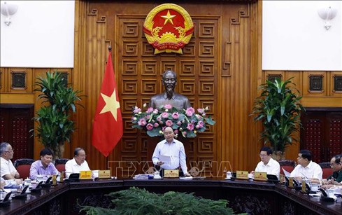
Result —
<instances>
[{"instance_id":1,"label":"dark reddish wooden door behind the men at far left","mask_svg":"<svg viewBox=\"0 0 342 215\"><path fill-rule=\"evenodd\" d=\"M18 158L33 158L34 141L29 132L34 127L33 117L33 105L0 107L0 141L13 147L13 162Z\"/></svg>"}]
</instances>

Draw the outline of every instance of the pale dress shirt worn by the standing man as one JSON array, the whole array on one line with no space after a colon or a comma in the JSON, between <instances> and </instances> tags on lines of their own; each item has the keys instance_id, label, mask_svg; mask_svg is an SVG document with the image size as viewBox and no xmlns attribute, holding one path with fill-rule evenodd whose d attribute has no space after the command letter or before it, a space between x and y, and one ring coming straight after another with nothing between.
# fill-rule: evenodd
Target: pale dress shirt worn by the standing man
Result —
<instances>
[{"instance_id":1,"label":"pale dress shirt worn by the standing man","mask_svg":"<svg viewBox=\"0 0 342 215\"><path fill-rule=\"evenodd\" d=\"M183 173L187 174L186 155L182 142L176 139L173 139L171 144L168 144L166 140L160 141L152 155L152 161L155 165L159 161L159 155L168 155L171 157L171 164L164 163L162 165L163 169L177 169L180 166Z\"/></svg>"}]
</instances>

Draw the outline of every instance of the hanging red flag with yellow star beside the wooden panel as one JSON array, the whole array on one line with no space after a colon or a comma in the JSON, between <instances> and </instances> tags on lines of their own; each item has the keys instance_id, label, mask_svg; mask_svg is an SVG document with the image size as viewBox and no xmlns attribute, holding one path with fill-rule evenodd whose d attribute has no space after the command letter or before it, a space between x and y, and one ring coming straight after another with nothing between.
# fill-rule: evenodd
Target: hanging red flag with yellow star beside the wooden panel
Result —
<instances>
[{"instance_id":1,"label":"hanging red flag with yellow star beside the wooden panel","mask_svg":"<svg viewBox=\"0 0 342 215\"><path fill-rule=\"evenodd\" d=\"M111 48L109 48L106 71L100 92L92 125L92 145L107 157L123 134Z\"/></svg>"}]
</instances>

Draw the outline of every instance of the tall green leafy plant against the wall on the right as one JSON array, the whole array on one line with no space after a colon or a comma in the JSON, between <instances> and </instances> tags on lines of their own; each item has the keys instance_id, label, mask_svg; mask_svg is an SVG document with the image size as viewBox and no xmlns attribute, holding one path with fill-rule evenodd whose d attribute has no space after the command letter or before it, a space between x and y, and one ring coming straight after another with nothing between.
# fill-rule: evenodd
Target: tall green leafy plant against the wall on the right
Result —
<instances>
[{"instance_id":1,"label":"tall green leafy plant against the wall on the right","mask_svg":"<svg viewBox=\"0 0 342 215\"><path fill-rule=\"evenodd\" d=\"M283 158L285 148L292 144L292 134L299 132L301 127L301 111L305 111L299 102L301 96L294 93L299 94L299 90L290 87L295 85L292 78L286 81L276 78L259 85L262 92L255 99L252 110L255 122L261 120L264 125L261 136L264 144L273 148L275 158Z\"/></svg>"}]
</instances>

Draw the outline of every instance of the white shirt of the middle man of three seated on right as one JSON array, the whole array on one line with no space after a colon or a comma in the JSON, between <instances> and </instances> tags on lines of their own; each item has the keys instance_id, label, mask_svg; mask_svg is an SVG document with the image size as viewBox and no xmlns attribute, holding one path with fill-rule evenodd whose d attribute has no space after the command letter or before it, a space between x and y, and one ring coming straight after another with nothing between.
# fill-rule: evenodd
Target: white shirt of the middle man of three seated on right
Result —
<instances>
[{"instance_id":1,"label":"white shirt of the middle man of three seated on right","mask_svg":"<svg viewBox=\"0 0 342 215\"><path fill-rule=\"evenodd\" d=\"M317 163L312 160L308 163L306 167L302 165L297 165L294 167L293 171L290 174L290 177L302 177L306 176L306 178L311 179L315 178L318 180L322 180L322 168Z\"/></svg>"}]
</instances>

